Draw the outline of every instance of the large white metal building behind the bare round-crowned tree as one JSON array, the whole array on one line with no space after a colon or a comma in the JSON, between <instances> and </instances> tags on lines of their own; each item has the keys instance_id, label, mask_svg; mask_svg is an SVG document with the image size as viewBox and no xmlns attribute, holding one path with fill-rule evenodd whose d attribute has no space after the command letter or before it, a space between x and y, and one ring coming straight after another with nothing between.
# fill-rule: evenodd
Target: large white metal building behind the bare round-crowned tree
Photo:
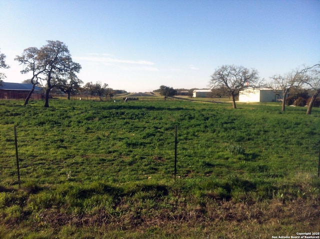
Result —
<instances>
[{"instance_id":1,"label":"large white metal building behind the bare round-crowned tree","mask_svg":"<svg viewBox=\"0 0 320 239\"><path fill-rule=\"evenodd\" d=\"M239 92L239 102L275 102L282 99L282 90L246 88Z\"/></svg>"}]
</instances>

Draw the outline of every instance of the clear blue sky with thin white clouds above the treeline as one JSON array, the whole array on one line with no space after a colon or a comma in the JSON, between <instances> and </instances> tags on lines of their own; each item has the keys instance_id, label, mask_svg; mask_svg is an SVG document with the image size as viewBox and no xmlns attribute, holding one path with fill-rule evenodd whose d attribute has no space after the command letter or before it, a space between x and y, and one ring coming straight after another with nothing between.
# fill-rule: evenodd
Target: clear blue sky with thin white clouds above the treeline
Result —
<instances>
[{"instance_id":1,"label":"clear blue sky with thin white clouds above the treeline","mask_svg":"<svg viewBox=\"0 0 320 239\"><path fill-rule=\"evenodd\" d=\"M5 82L14 60L59 40L78 77L113 89L207 88L224 64L274 74L320 62L320 0L0 0Z\"/></svg>"}]
</instances>

